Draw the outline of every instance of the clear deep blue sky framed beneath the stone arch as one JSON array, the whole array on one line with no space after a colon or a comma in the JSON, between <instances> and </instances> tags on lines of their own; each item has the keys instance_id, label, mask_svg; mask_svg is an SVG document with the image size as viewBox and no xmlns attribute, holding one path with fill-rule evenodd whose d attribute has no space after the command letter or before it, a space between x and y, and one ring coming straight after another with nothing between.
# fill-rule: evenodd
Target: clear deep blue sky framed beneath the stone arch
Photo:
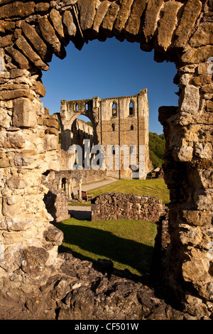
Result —
<instances>
[{"instance_id":1,"label":"clear deep blue sky framed beneath the stone arch","mask_svg":"<svg viewBox=\"0 0 213 334\"><path fill-rule=\"evenodd\" d=\"M178 86L173 84L177 72L173 63L156 63L153 52L141 51L138 43L108 38L105 42L89 41L82 50L70 42L67 57L53 56L50 70L43 72L46 95L41 99L50 114L60 112L60 100L89 99L95 96L136 95L148 89L149 130L163 133L158 122L158 108L178 106Z\"/></svg>"}]
</instances>

